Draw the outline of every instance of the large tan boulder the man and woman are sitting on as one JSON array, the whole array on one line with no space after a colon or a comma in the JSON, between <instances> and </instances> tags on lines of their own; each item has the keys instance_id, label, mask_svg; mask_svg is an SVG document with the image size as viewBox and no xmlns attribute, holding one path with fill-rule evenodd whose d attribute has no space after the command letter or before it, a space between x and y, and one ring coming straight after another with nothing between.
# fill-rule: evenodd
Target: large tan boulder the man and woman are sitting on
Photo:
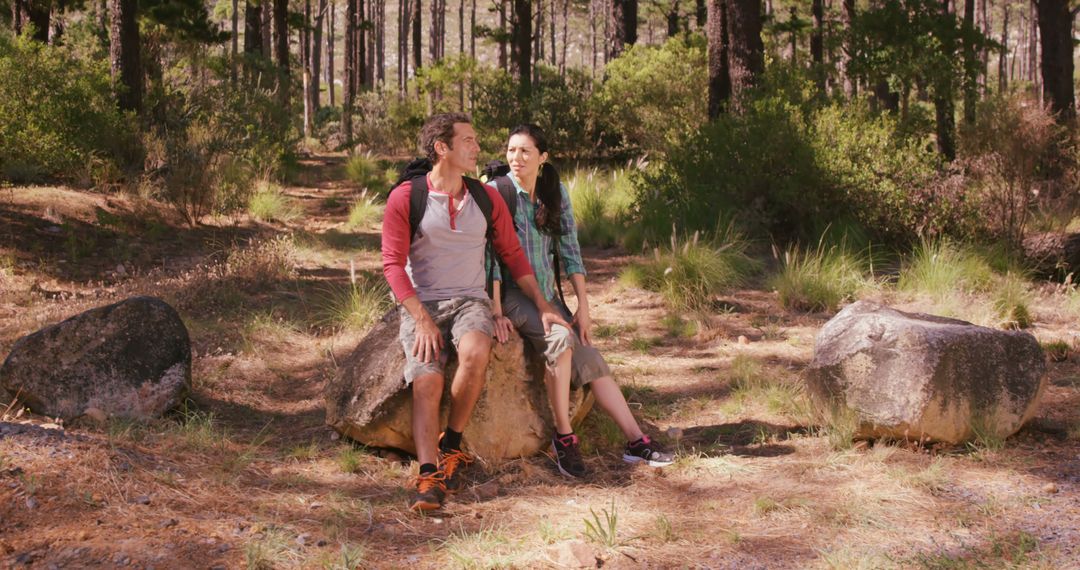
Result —
<instances>
[{"instance_id":1,"label":"large tan boulder the man and woman are sitting on","mask_svg":"<svg viewBox=\"0 0 1080 570\"><path fill-rule=\"evenodd\" d=\"M413 391L405 389L405 353L397 340L399 316L391 311L342 362L326 385L326 423L372 447L416 452L413 444ZM484 392L464 431L464 446L489 461L531 456L551 442L553 424L543 382L543 361L526 350L516 332L495 343ZM440 426L446 425L450 380L446 371ZM592 407L586 390L570 393L570 415L580 423Z\"/></svg>"}]
</instances>

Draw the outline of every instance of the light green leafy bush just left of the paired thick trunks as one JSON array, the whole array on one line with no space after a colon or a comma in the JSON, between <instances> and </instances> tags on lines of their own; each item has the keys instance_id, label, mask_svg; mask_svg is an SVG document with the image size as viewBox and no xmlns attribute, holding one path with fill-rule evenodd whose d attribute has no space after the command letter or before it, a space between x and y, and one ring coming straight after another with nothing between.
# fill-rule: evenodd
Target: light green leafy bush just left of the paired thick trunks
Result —
<instances>
[{"instance_id":1,"label":"light green leafy bush just left of the paired thick trunks","mask_svg":"<svg viewBox=\"0 0 1080 570\"><path fill-rule=\"evenodd\" d=\"M630 45L604 69L592 106L597 121L632 152L663 152L706 117L704 38L671 38L662 45Z\"/></svg>"}]
</instances>

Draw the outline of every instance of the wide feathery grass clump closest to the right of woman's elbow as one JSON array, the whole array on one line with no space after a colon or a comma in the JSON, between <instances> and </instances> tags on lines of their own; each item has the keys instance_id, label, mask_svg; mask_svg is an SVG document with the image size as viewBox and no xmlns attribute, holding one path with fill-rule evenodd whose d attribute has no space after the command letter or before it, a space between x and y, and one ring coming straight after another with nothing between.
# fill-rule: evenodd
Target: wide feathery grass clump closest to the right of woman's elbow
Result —
<instances>
[{"instance_id":1,"label":"wide feathery grass clump closest to the right of woman's elbow","mask_svg":"<svg viewBox=\"0 0 1080 570\"><path fill-rule=\"evenodd\" d=\"M631 266L620 280L660 293L672 311L707 312L714 296L742 284L758 269L746 247L747 242L730 230L715 240L702 240L696 232L681 243L673 235L670 248L654 249L652 259Z\"/></svg>"}]
</instances>

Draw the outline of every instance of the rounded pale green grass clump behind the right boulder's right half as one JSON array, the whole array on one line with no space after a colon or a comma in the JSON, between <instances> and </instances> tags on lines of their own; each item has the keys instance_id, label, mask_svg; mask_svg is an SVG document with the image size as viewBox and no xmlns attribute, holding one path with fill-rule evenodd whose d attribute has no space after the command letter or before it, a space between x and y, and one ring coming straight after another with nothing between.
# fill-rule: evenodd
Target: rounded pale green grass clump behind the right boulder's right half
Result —
<instances>
[{"instance_id":1,"label":"rounded pale green grass clump behind the right boulder's right half","mask_svg":"<svg viewBox=\"0 0 1080 570\"><path fill-rule=\"evenodd\" d=\"M900 274L901 290L942 300L957 293L985 291L994 269L971 247L947 241L922 242Z\"/></svg>"}]
</instances>

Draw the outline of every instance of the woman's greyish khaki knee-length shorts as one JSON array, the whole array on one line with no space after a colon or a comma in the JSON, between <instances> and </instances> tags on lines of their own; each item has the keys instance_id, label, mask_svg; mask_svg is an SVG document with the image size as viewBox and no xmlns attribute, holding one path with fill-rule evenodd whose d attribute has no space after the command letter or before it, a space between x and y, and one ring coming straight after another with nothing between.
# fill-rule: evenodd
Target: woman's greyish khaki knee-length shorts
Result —
<instances>
[{"instance_id":1,"label":"woman's greyish khaki knee-length shorts","mask_svg":"<svg viewBox=\"0 0 1080 570\"><path fill-rule=\"evenodd\" d=\"M561 302L552 303L562 313L563 318L569 323L573 320L570 311ZM502 298L502 314L510 318L514 328L532 347L544 355L549 366L554 366L555 361L566 351L572 350L570 357L570 382L575 388L580 388L597 378L611 376L600 352L594 347L586 347L578 340L578 335L568 330L562 325L551 327L551 332L543 331L543 323L540 321L540 311L532 301L515 287L507 288L507 294Z\"/></svg>"}]
</instances>

